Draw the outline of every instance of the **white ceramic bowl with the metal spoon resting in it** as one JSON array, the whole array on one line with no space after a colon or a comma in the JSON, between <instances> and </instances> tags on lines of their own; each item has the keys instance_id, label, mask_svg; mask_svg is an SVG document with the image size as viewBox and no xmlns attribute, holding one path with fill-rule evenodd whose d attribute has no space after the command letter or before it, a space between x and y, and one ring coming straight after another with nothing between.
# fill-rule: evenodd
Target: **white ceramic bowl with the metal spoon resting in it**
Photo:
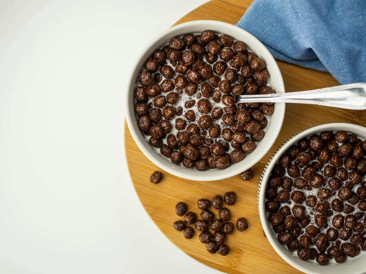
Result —
<instances>
[{"instance_id":1,"label":"white ceramic bowl with the metal spoon resting in it","mask_svg":"<svg viewBox=\"0 0 366 274\"><path fill-rule=\"evenodd\" d=\"M258 143L256 150L247 154L245 159L241 162L237 164L231 164L224 170L213 169L200 172L196 169L188 169L182 165L173 164L168 159L157 153L156 150L145 139L143 133L137 126L137 119L134 110L134 90L138 82L139 74L142 71L145 61L154 53L154 51L161 46L167 45L173 37L186 33L198 33L204 30L213 30L217 33L227 34L233 37L235 40L240 40L246 43L247 48L250 51L254 51L261 59L265 61L266 69L269 74L268 84L277 93L285 92L281 72L276 64L276 61L257 38L255 38L250 33L227 23L209 20L193 21L180 24L163 32L157 38L155 38L137 58L137 61L132 68L132 73L127 85L126 119L128 128L130 129L132 137L134 138L138 147L159 168L185 179L197 181L214 181L232 177L249 169L267 153L281 129L285 114L285 104L275 104L273 115L268 117L268 126L265 129L265 136ZM144 163L141 164L142 166L144 165Z\"/></svg>"}]
</instances>

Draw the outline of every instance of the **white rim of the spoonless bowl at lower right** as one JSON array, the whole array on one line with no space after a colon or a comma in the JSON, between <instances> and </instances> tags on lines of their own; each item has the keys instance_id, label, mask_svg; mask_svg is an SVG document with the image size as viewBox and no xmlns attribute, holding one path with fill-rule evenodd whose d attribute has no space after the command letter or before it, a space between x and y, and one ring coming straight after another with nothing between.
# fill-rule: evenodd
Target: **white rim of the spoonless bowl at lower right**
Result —
<instances>
[{"instance_id":1,"label":"white rim of the spoonless bowl at lower right","mask_svg":"<svg viewBox=\"0 0 366 274\"><path fill-rule=\"evenodd\" d=\"M284 252L284 251L288 251L288 250L285 250L283 245L280 244L278 242L277 238L274 237L272 231L269 228L269 222L266 218L266 212L265 212L265 208L264 208L265 187L267 185L270 173L271 173L274 165L277 163L277 160L279 159L279 157L281 157L283 152L286 151L291 145L293 145L295 142L297 142L301 138L307 137L311 134L319 133L319 132L322 132L322 131L335 131L336 127L343 128L343 130L347 131L347 132L353 132L355 129L358 129L359 131L364 132L364 137L366 139L366 128L362 127L362 126L359 126L359 125L350 124L350 123L323 124L323 125L319 125L319 126L309 128L307 130L300 131L300 132L294 134L292 137L288 138L286 141L284 141L276 149L276 151L269 158L267 164L265 165L264 170L263 170L262 175L261 175L260 183L259 183L258 210L259 210L261 225L262 225L262 228L264 230L264 233L265 233L267 239L269 240L271 246L273 247L273 249L277 252L277 254L280 255L280 257L283 260L285 260L288 264L290 264L291 266L293 266L297 270L300 270L304 273L320 274L322 272L316 272L314 270L310 270L308 268L305 268L305 267L297 264L296 262L294 262L293 260L290 259L290 256L288 256L288 254L286 254ZM281 247L279 247L279 246L281 246ZM293 254L293 253L289 253L289 254ZM324 268L324 266L321 266L321 267ZM363 274L363 273L365 273L365 271L362 271L362 270L359 271L359 272L352 272L352 274Z\"/></svg>"}]
</instances>

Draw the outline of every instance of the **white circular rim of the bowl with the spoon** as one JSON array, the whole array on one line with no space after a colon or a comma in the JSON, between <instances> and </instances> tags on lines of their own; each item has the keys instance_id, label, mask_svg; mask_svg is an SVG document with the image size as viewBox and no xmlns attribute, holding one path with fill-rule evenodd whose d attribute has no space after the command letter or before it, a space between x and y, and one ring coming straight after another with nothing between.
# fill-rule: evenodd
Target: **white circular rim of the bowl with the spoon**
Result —
<instances>
[{"instance_id":1,"label":"white circular rim of the bowl with the spoon","mask_svg":"<svg viewBox=\"0 0 366 274\"><path fill-rule=\"evenodd\" d=\"M184 178L184 179L188 179L188 180L199 180L199 181L216 181L216 180L222 180L222 179L226 179L226 178L230 178L232 176L235 176L241 172L243 172L244 170L246 170L247 168L241 168L241 169L235 169L232 170L231 172L228 172L226 169L222 170L222 173L219 173L218 175L207 175L207 176L195 176L195 175L190 175L190 174L185 174L180 172L177 169L173 169L170 168L167 165L164 165L162 163L160 163L159 161L157 161L157 159L155 157L151 157L151 153L149 151L147 151L147 149L144 147L144 144L139 140L139 137L137 136L137 132L134 130L134 125L133 125L133 121L132 121L132 117L129 115L130 113L130 109L133 107L133 104L131 104L129 102L129 97L130 97L130 90L131 90L131 86L133 86L135 84L135 79L134 79L134 72L138 69L140 69L139 62L141 61L141 59L143 58L143 56L146 54L146 52L155 44L157 43L159 40L163 39L165 36L169 35L172 32L175 32L177 30L183 29L183 28L187 28L187 27L195 27L197 25L200 24L211 24L211 25L215 25L215 26L221 26L221 27L226 27L226 28L234 28L237 30L240 30L241 32L243 32L243 34L245 34L248 37L251 37L251 39L255 40L256 43L260 43L262 45L261 48L261 52L263 54L266 55L266 58L270 59L271 62L273 62L274 64L274 68L277 71L277 74L279 77L278 78L278 86L280 87L280 89L276 92L282 93L285 92L285 87L284 87L284 83L283 83L283 78L282 78L282 74L280 69L278 68L278 65L274 59L274 57L272 56L272 54L269 52L269 50L256 38L254 37L252 34L250 34L249 32L235 26L229 23L225 23L225 22L221 22L221 21L215 21L215 20L196 20L196 21L190 21L190 22L185 22L185 23L181 23L179 25L173 26L167 30L165 30L164 32L162 32L161 34L159 34L156 38L154 38L143 50L142 52L139 54L139 56L137 57L133 68L131 70L130 76L128 78L128 82L127 82L127 86L126 86L126 110L125 110L125 118L127 121L127 125L128 128L130 130L131 136L133 137L135 143L137 144L137 146L139 147L139 149L144 153L144 155L150 160L152 161L158 168L164 170L165 172L168 172L174 176L180 177L180 178ZM283 120L284 120L284 116L285 116L285 104L281 104L281 103L275 103L276 105L276 109L275 111L277 111L278 115L279 115L279 121L277 122L277 128L274 130L274 134L272 134L272 138L268 141L267 140L267 146L268 148L266 150L264 150L261 154L258 154L256 161L251 162L251 167L254 166L256 163L258 163L264 156L265 154L270 150L270 148L272 147L272 145L274 144L275 140L277 139L280 130L282 128L282 124L283 124ZM136 122L135 122L136 123ZM272 122L273 123L273 122ZM240 163L237 163L238 167ZM248 167L250 168L250 167ZM224 172L225 171L225 172ZM200 171L197 171L196 174L200 174ZM202 172L202 174L205 174L204 172Z\"/></svg>"}]
</instances>

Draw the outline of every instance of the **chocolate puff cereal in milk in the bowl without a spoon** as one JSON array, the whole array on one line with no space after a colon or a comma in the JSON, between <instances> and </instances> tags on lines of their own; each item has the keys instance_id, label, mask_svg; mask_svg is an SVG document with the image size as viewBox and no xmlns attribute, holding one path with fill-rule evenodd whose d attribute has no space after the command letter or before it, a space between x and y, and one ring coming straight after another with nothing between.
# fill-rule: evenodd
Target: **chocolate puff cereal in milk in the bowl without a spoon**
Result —
<instances>
[{"instance_id":1,"label":"chocolate puff cereal in milk in the bowl without a spoon","mask_svg":"<svg viewBox=\"0 0 366 274\"><path fill-rule=\"evenodd\" d=\"M265 210L278 241L300 259L340 264L366 251L365 155L366 141L355 134L325 131L279 158Z\"/></svg>"}]
</instances>

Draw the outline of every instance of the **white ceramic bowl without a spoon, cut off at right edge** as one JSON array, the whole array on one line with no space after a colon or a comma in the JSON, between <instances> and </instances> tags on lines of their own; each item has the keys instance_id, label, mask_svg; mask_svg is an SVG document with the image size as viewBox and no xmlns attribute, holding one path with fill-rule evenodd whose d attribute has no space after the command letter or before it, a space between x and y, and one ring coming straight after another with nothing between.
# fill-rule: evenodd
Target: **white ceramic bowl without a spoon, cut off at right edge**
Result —
<instances>
[{"instance_id":1,"label":"white ceramic bowl without a spoon, cut off at right edge","mask_svg":"<svg viewBox=\"0 0 366 274\"><path fill-rule=\"evenodd\" d=\"M290 252L287 248L279 243L277 237L272 231L271 225L269 224L264 208L265 204L265 188L267 186L268 178L272 172L274 165L277 163L279 157L293 144L296 144L301 138L311 136L315 133L323 131L346 131L356 134L362 139L366 139L366 128L344 123L325 124L317 126L302 132L287 139L270 157L266 164L263 173L261 175L259 190L258 190L258 210L261 218L261 224L265 235L269 242L273 246L274 250L291 266L294 268L309 274L362 274L366 272L365 260L366 252L361 253L355 258L347 257L347 260L343 264L337 264L334 260L330 260L326 266L320 266L315 260L303 261L301 260L296 252ZM362 252L362 251L361 251Z\"/></svg>"}]
</instances>

